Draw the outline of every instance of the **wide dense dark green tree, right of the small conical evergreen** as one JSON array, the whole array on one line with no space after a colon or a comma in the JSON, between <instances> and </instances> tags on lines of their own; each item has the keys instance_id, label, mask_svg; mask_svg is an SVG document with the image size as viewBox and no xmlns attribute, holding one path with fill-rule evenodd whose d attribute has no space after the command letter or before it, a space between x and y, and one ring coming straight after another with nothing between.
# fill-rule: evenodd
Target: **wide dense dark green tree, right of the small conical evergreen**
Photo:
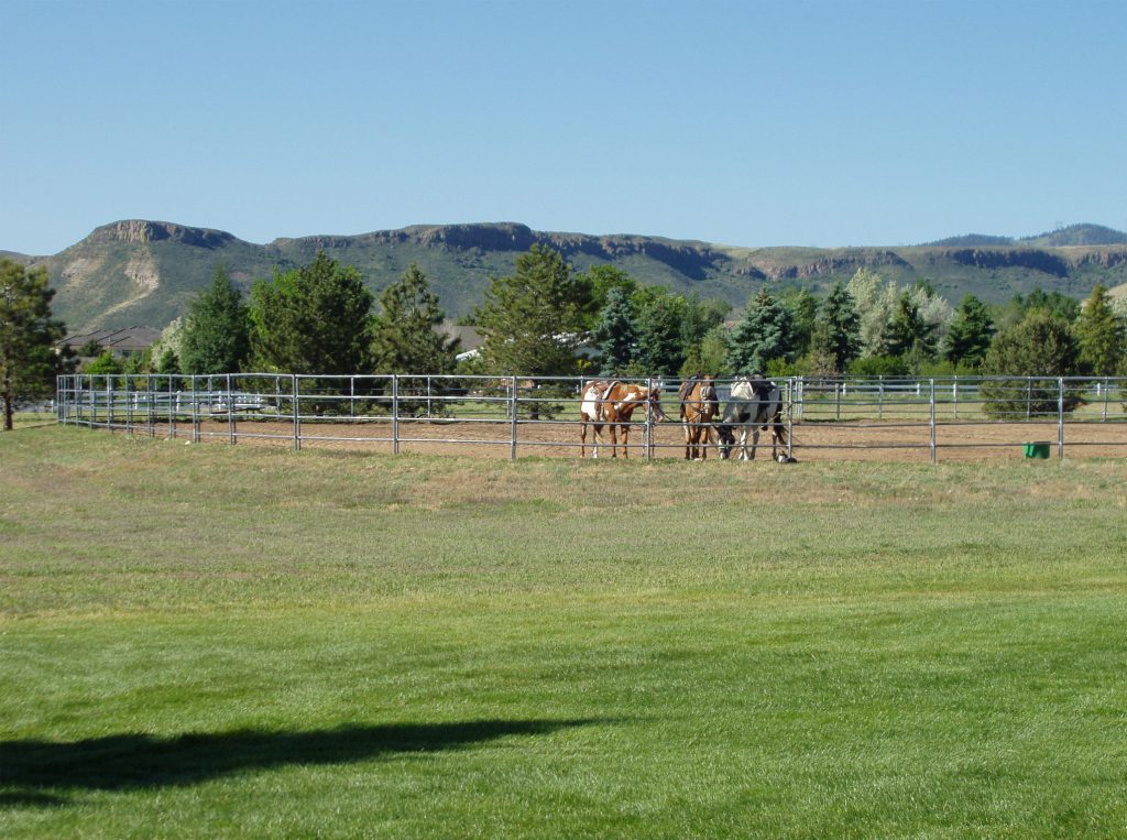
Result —
<instances>
[{"instance_id":1,"label":"wide dense dark green tree, right of the small conical evergreen","mask_svg":"<svg viewBox=\"0 0 1127 840\"><path fill-rule=\"evenodd\" d=\"M250 290L250 347L257 365L285 373L370 370L372 293L352 266L319 251L308 266Z\"/></svg>"}]
</instances>

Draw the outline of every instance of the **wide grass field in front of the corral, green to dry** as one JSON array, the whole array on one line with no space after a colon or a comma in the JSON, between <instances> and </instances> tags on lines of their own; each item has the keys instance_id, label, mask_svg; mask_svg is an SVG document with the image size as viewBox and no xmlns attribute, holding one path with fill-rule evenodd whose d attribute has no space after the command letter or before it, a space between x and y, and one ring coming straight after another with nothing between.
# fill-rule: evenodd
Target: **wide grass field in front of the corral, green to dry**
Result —
<instances>
[{"instance_id":1,"label":"wide grass field in front of the corral, green to dry","mask_svg":"<svg viewBox=\"0 0 1127 840\"><path fill-rule=\"evenodd\" d=\"M0 835L1122 837L1127 460L0 434Z\"/></svg>"}]
</instances>

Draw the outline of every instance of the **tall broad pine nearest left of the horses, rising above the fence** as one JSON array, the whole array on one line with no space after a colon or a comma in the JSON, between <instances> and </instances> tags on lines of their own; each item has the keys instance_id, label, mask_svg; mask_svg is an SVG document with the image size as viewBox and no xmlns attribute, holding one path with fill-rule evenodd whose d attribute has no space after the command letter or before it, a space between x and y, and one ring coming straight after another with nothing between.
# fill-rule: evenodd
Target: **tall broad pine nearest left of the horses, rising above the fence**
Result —
<instances>
[{"instance_id":1,"label":"tall broad pine nearest left of the horses, rising above the fence","mask_svg":"<svg viewBox=\"0 0 1127 840\"><path fill-rule=\"evenodd\" d=\"M492 278L474 312L486 368L503 375L575 373L585 291L559 253L533 245L516 258L515 274Z\"/></svg>"}]
</instances>

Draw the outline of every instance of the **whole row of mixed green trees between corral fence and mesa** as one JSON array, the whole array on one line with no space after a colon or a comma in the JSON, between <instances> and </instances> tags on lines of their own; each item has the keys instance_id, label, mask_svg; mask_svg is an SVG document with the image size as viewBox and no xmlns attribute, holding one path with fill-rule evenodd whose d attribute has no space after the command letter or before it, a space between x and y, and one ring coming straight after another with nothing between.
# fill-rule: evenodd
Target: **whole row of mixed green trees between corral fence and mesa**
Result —
<instances>
[{"instance_id":1,"label":"whole row of mixed green trees between corral fence and mesa","mask_svg":"<svg viewBox=\"0 0 1127 840\"><path fill-rule=\"evenodd\" d=\"M6 412L72 364L50 348L46 269L0 264L0 384ZM492 277L463 322L485 338L458 360L426 274L411 265L376 298L353 266L319 253L275 269L247 298L223 266L145 354L109 352L90 373L419 373L719 375L1127 375L1127 311L1095 286L1083 302L1040 290L952 308L930 283L899 286L862 268L824 295L766 286L731 306L637 282L612 265L576 271L533 246ZM587 352L580 352L586 347ZM92 348L91 348L92 350ZM34 383L39 383L35 386Z\"/></svg>"}]
</instances>

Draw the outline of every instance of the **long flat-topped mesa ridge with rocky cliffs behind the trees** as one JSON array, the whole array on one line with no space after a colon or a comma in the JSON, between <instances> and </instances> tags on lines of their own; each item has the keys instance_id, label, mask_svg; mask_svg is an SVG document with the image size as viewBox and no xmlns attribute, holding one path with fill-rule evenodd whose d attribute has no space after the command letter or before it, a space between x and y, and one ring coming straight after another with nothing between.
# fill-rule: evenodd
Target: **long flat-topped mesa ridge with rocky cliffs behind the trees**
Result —
<instances>
[{"instance_id":1,"label":"long flat-topped mesa ridge with rocky cliffs behind the trees","mask_svg":"<svg viewBox=\"0 0 1127 840\"><path fill-rule=\"evenodd\" d=\"M1051 242L1046 238L1051 238ZM1061 244L1055 244L1061 242ZM275 269L305 265L318 250L356 266L379 292L411 264L426 272L451 317L472 311L492 276L509 274L534 244L556 248L577 268L613 264L656 283L737 307L763 286L825 292L867 267L899 283L929 280L952 303L974 293L1002 302L1036 288L1085 297L1097 283L1127 282L1127 235L1075 226L1022 240L967 236L914 247L744 248L646 236L541 232L515 222L414 226L358 236L311 236L255 245L236 236L171 222L103 226L60 254L6 251L47 266L54 311L72 333L149 325L181 315L218 264L249 290Z\"/></svg>"}]
</instances>

